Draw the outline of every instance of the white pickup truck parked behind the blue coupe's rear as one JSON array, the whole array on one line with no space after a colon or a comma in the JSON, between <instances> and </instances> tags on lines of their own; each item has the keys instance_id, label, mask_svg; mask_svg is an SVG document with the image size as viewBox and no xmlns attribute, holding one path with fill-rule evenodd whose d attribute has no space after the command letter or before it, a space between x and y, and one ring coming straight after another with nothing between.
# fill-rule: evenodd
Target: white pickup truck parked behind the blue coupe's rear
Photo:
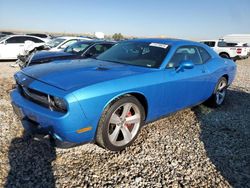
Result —
<instances>
[{"instance_id":1,"label":"white pickup truck parked behind the blue coupe's rear","mask_svg":"<svg viewBox=\"0 0 250 188\"><path fill-rule=\"evenodd\" d=\"M200 42L211 47L221 57L227 58L227 59L233 59L234 61L239 60L239 59L244 59L247 57L247 54L248 54L246 48L230 46L224 40L202 40Z\"/></svg>"}]
</instances>

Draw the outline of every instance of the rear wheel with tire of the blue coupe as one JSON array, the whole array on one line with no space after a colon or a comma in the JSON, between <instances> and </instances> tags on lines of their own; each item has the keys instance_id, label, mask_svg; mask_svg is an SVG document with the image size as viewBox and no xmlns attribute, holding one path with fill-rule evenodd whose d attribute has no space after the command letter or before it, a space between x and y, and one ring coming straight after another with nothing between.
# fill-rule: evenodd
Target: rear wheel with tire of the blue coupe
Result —
<instances>
[{"instance_id":1,"label":"rear wheel with tire of the blue coupe","mask_svg":"<svg viewBox=\"0 0 250 188\"><path fill-rule=\"evenodd\" d=\"M221 106L225 101L228 86L227 84L227 79L225 77L221 77L216 84L212 96L205 101L205 104L209 107L215 108Z\"/></svg>"}]
</instances>

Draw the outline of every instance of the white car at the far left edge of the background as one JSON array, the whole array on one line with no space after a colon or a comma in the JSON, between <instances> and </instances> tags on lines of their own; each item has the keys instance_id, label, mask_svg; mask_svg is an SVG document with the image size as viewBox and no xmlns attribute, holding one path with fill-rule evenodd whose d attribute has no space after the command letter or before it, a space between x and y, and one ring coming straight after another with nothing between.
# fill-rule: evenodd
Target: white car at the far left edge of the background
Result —
<instances>
[{"instance_id":1,"label":"white car at the far left edge of the background","mask_svg":"<svg viewBox=\"0 0 250 188\"><path fill-rule=\"evenodd\" d=\"M0 59L17 59L26 41L32 41L34 46L41 46L45 41L29 35L8 35L0 39Z\"/></svg>"}]
</instances>

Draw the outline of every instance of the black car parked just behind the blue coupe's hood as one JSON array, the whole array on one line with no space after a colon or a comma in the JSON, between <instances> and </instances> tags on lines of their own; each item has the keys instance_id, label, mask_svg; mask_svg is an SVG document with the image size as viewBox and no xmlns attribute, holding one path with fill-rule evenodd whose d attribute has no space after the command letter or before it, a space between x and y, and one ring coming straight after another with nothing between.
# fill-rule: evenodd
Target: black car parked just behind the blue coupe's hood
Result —
<instances>
[{"instance_id":1,"label":"black car parked just behind the blue coupe's hood","mask_svg":"<svg viewBox=\"0 0 250 188\"><path fill-rule=\"evenodd\" d=\"M114 42L108 41L88 40L76 42L65 48L63 51L59 52L38 51L26 60L26 63L24 63L23 67L42 63L49 63L54 60L73 60L96 57L111 48L114 44Z\"/></svg>"}]
</instances>

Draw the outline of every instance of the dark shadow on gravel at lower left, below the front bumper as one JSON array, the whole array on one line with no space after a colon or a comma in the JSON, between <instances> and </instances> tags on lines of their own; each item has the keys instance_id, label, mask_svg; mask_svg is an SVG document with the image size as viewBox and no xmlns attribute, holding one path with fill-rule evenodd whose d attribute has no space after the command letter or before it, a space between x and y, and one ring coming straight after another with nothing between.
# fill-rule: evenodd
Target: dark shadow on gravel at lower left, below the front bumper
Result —
<instances>
[{"instance_id":1,"label":"dark shadow on gravel at lower left, below the front bumper","mask_svg":"<svg viewBox=\"0 0 250 188\"><path fill-rule=\"evenodd\" d=\"M5 184L12 187L55 187L52 161L55 148L46 140L23 137L14 138L9 147L10 171Z\"/></svg>"}]
</instances>

